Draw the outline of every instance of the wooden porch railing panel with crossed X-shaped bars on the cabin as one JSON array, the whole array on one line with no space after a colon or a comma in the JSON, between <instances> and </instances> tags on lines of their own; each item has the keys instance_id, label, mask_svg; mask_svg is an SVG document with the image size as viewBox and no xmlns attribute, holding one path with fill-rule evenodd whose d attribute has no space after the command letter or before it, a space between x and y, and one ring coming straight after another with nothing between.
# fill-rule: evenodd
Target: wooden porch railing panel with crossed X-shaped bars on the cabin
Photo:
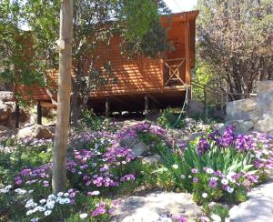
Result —
<instances>
[{"instance_id":1,"label":"wooden porch railing panel with crossed X-shaped bars on the cabin","mask_svg":"<svg viewBox=\"0 0 273 222\"><path fill-rule=\"evenodd\" d=\"M163 86L185 86L185 58L163 60Z\"/></svg>"}]
</instances>

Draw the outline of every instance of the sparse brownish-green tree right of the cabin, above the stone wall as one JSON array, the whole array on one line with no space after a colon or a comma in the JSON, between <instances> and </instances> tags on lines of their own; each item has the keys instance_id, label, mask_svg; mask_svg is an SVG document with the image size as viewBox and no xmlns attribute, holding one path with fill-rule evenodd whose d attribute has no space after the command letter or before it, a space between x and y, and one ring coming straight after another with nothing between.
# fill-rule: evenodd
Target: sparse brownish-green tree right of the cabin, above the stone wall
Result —
<instances>
[{"instance_id":1,"label":"sparse brownish-green tree right of the cabin, above the stone wall","mask_svg":"<svg viewBox=\"0 0 273 222\"><path fill-rule=\"evenodd\" d=\"M218 89L246 97L256 81L272 79L272 5L272 0L199 0L197 75L209 73Z\"/></svg>"}]
</instances>

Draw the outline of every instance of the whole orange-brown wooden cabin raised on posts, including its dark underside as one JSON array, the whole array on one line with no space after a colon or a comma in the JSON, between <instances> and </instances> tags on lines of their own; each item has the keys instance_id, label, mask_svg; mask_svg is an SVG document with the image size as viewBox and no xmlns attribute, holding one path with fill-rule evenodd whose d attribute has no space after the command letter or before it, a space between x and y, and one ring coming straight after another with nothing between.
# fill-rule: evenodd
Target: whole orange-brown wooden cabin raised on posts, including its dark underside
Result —
<instances>
[{"instance_id":1,"label":"whole orange-brown wooden cabin raised on posts, including its dark underside","mask_svg":"<svg viewBox=\"0 0 273 222\"><path fill-rule=\"evenodd\" d=\"M174 50L157 58L140 55L125 59L118 46L120 37L114 36L98 66L110 62L116 81L91 92L87 105L96 113L182 106L186 90L190 89L191 69L195 66L197 15L197 11L191 11L161 17ZM57 75L50 78L56 81ZM16 90L24 92L25 89L19 86ZM34 87L32 96L42 106L51 103L45 88Z\"/></svg>"}]
</instances>

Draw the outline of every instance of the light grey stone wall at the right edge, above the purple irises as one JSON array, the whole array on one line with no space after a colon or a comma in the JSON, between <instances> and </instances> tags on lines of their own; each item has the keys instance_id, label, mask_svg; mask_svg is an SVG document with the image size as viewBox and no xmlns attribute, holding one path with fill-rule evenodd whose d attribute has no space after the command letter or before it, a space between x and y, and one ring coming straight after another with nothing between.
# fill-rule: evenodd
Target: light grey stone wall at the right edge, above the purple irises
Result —
<instances>
[{"instance_id":1,"label":"light grey stone wall at the right edge, above the purple irises","mask_svg":"<svg viewBox=\"0 0 273 222\"><path fill-rule=\"evenodd\" d=\"M227 103L227 124L240 132L273 132L273 81L258 82L257 93L255 98Z\"/></svg>"}]
</instances>

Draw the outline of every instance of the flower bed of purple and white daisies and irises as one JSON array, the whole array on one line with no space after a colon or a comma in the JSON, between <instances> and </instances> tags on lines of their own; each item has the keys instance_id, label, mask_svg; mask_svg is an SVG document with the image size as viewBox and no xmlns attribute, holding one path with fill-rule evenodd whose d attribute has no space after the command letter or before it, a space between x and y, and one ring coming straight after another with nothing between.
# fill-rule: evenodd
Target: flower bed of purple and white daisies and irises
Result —
<instances>
[{"instance_id":1,"label":"flower bed of purple and white daisies and irises","mask_svg":"<svg viewBox=\"0 0 273 222\"><path fill-rule=\"evenodd\" d=\"M146 165L134 159L130 149L119 145L130 137L141 139L149 152L159 154L163 162ZM3 142L4 146L16 146L17 151L1 154L7 163L1 163L5 180L0 182L13 180L13 185L5 184L0 189L1 219L108 221L117 207L111 199L130 194L140 186L190 192L207 215L220 214L224 218L226 215L218 212L226 210L212 209L209 203L232 205L245 201L248 190L266 180L273 167L273 138L259 133L236 135L232 126L221 135L207 132L207 136L188 146L177 143L169 147L167 131L147 122L117 133L85 133L79 139L66 163L67 191L57 196L52 195L50 186L52 142ZM172 219L179 218L187 219Z\"/></svg>"}]
</instances>

